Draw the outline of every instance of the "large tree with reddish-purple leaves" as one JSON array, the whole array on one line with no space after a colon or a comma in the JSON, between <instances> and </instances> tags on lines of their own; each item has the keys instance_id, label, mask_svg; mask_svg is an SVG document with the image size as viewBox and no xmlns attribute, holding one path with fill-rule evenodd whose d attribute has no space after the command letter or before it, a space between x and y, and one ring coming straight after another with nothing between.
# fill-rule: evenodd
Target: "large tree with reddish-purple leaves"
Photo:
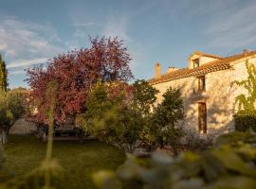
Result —
<instances>
[{"instance_id":1,"label":"large tree with reddish-purple leaves","mask_svg":"<svg viewBox=\"0 0 256 189\"><path fill-rule=\"evenodd\" d=\"M92 46L59 55L48 60L46 69L36 66L27 70L27 83L31 92L29 106L36 107L33 120L47 123L46 110L50 106L46 98L46 86L51 80L58 81L54 119L62 123L67 115L84 111L86 97L93 85L102 82L127 82L133 75L127 48L116 38L89 38Z\"/></svg>"}]
</instances>

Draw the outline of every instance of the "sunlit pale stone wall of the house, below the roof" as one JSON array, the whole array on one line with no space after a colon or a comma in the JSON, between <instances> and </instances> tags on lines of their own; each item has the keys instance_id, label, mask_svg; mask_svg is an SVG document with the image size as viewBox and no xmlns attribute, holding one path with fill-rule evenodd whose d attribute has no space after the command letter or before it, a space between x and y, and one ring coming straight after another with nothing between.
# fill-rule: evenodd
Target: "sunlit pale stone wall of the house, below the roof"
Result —
<instances>
[{"instance_id":1,"label":"sunlit pale stone wall of the house, below the roof","mask_svg":"<svg viewBox=\"0 0 256 189\"><path fill-rule=\"evenodd\" d=\"M207 135L217 136L234 129L233 114L235 112L235 96L238 94L247 94L247 91L241 87L232 85L234 80L247 78L247 69L245 60L234 62L229 70L222 70L207 74L206 91L198 92L198 78L185 77L168 82L155 84L154 87L160 91L157 94L157 102L162 101L162 94L169 87L180 89L185 118L182 127L198 132L198 102L207 104ZM256 59L250 59L249 62L255 63ZM205 137L206 134L201 134Z\"/></svg>"}]
</instances>

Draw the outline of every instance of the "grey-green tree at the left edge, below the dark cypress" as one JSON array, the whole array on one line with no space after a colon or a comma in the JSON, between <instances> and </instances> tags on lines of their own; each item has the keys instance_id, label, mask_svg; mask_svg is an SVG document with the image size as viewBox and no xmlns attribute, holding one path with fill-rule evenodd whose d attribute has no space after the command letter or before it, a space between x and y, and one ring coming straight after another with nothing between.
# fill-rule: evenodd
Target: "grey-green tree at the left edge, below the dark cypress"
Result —
<instances>
[{"instance_id":1,"label":"grey-green tree at the left edge, below the dark cypress","mask_svg":"<svg viewBox=\"0 0 256 189\"><path fill-rule=\"evenodd\" d=\"M9 129L25 113L24 94L19 92L0 92L0 137L1 143L8 141Z\"/></svg>"}]
</instances>

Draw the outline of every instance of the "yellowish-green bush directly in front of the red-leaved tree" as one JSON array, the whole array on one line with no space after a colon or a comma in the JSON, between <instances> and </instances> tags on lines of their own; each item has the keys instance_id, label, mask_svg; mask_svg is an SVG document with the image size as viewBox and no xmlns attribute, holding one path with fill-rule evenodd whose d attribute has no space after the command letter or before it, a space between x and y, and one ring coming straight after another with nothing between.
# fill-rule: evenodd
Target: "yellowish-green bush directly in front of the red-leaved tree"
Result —
<instances>
[{"instance_id":1,"label":"yellowish-green bush directly in front of the red-leaved tree","mask_svg":"<svg viewBox=\"0 0 256 189\"><path fill-rule=\"evenodd\" d=\"M96 84L77 123L99 140L132 152L142 129L142 115L129 106L127 91L119 89L115 94L113 86L116 91L117 83Z\"/></svg>"}]
</instances>

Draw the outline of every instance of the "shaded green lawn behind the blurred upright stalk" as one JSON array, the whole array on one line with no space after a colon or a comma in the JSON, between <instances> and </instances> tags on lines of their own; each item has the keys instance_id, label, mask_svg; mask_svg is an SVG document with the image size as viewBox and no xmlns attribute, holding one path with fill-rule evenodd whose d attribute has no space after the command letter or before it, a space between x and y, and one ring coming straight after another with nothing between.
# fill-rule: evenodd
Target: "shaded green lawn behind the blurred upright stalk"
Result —
<instances>
[{"instance_id":1,"label":"shaded green lawn behind the blurred upright stalk","mask_svg":"<svg viewBox=\"0 0 256 189\"><path fill-rule=\"evenodd\" d=\"M46 155L46 143L31 136L10 136L4 146L5 169L19 177L37 167ZM63 167L63 177L56 188L95 188L91 174L101 169L116 169L125 161L125 153L115 146L97 141L54 142L53 158Z\"/></svg>"}]
</instances>

